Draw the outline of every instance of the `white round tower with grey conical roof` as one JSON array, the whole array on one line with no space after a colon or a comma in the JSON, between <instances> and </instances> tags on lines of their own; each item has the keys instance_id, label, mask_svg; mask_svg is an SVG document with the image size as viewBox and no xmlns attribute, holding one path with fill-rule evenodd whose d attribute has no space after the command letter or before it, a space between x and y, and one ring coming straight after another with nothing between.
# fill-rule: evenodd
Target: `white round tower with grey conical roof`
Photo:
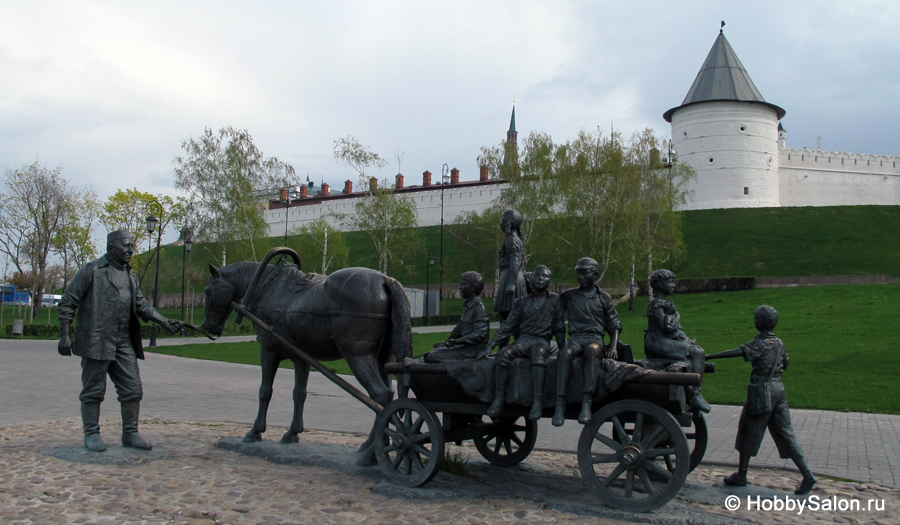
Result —
<instances>
[{"instance_id":1,"label":"white round tower with grey conical roof","mask_svg":"<svg viewBox=\"0 0 900 525\"><path fill-rule=\"evenodd\" d=\"M684 102L663 118L672 124L678 162L696 172L688 209L780 205L778 121L720 31Z\"/></svg>"}]
</instances>

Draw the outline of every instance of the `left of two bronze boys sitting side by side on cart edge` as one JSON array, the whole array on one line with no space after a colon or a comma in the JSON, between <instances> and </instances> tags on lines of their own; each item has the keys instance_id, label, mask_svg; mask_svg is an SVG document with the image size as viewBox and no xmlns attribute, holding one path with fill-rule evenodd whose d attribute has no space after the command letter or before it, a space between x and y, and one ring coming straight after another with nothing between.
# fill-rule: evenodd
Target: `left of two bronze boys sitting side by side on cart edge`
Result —
<instances>
[{"instance_id":1,"label":"left of two bronze boys sitting side by side on cart edge","mask_svg":"<svg viewBox=\"0 0 900 525\"><path fill-rule=\"evenodd\" d=\"M516 300L509 317L500 325L488 348L495 348L500 342L519 331L519 337L497 354L496 382L494 402L488 408L487 415L494 417L503 410L506 382L509 379L509 367L517 358L531 360L531 382L534 398L528 419L536 421L541 418L544 394L544 371L550 353L550 339L556 336L560 348L565 347L566 332L563 321L562 303L559 295L547 291L551 283L550 269L538 266L531 275L532 293Z\"/></svg>"}]
</instances>

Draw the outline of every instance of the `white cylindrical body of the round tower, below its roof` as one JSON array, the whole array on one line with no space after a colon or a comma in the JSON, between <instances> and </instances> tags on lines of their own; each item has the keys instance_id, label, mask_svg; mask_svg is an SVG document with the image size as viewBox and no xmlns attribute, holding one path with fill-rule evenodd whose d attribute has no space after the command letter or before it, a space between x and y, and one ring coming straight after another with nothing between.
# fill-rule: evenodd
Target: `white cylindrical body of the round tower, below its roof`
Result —
<instances>
[{"instance_id":1,"label":"white cylindrical body of the round tower, below its roof","mask_svg":"<svg viewBox=\"0 0 900 525\"><path fill-rule=\"evenodd\" d=\"M672 115L678 162L696 171L686 209L779 206L778 120L751 102L704 102Z\"/></svg>"}]
</instances>

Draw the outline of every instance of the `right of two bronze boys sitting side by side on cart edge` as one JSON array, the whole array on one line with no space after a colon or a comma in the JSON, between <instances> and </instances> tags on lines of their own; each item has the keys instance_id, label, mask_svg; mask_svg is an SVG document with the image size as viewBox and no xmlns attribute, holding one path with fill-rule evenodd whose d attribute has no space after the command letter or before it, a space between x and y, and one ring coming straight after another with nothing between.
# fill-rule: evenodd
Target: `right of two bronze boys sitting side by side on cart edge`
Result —
<instances>
[{"instance_id":1,"label":"right of two bronze boys sitting side by side on cart edge","mask_svg":"<svg viewBox=\"0 0 900 525\"><path fill-rule=\"evenodd\" d=\"M571 288L560 295L563 310L569 313L569 338L556 361L556 412L553 426L561 427L566 421L566 384L572 361L581 356L581 370L576 372L584 378L581 414L578 422L582 425L591 420L591 404L596 386L596 368L603 357L615 359L616 344L622 323L613 305L612 298L594 284L600 276L597 261L583 257L575 264L578 288ZM610 346L604 355L603 334L608 333Z\"/></svg>"}]
</instances>

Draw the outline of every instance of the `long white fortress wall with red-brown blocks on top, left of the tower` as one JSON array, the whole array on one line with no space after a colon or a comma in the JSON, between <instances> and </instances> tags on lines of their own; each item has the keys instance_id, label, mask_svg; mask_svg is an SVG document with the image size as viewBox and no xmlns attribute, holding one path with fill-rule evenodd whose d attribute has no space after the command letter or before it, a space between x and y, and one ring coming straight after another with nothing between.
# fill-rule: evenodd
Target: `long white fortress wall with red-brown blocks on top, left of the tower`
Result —
<instances>
[{"instance_id":1,"label":"long white fortress wall with red-brown blocks on top, left of the tower","mask_svg":"<svg viewBox=\"0 0 900 525\"><path fill-rule=\"evenodd\" d=\"M444 224L449 224L460 214L468 211L481 212L496 199L500 192L507 187L505 183L490 183L479 185L447 186L444 189ZM407 188L401 190L400 195L411 197L416 203L416 211L419 215L419 226L439 226L441 224L441 190L440 186L432 189ZM346 218L356 215L356 203L364 198L362 193L354 193L352 196L342 194L325 198L312 197L310 200L320 202L297 205L296 203L287 209L288 231L305 226L326 217L332 226L341 231L350 231L339 216ZM279 208L264 212L266 222L269 224L269 236L279 237L284 235L285 209Z\"/></svg>"}]
</instances>

